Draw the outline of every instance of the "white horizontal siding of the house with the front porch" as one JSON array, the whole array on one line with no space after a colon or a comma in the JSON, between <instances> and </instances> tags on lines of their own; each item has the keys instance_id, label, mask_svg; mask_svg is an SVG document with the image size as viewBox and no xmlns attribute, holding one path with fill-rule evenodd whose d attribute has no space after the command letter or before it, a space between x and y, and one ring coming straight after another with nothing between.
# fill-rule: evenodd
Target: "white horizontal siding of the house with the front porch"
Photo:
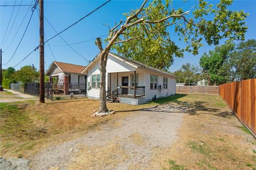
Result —
<instances>
[{"instance_id":1,"label":"white horizontal siding of the house with the front porch","mask_svg":"<svg viewBox=\"0 0 256 170\"><path fill-rule=\"evenodd\" d=\"M92 66L87 70L87 96L89 98L99 98L100 95L100 89L93 89L91 87L91 75L93 74L100 74L99 71L99 59L95 60ZM111 55L108 56L107 60L107 74L106 74L106 90L108 87L110 87L111 83L111 89L115 90L117 86L122 86L122 77L128 77L128 86L131 86L131 74L134 74L134 71L139 76L139 84L138 86L145 86L145 100L150 101L152 98L156 95L157 98L159 97L166 97L170 95L175 94L176 90L176 79L175 77L172 77L171 75L167 75L164 73L159 73L156 71L151 71L149 69L135 69L135 67L132 67L129 64L126 64L125 62L118 60L118 58L115 58ZM117 73L118 72L118 73ZM110 77L111 73L111 77ZM150 74L154 74L158 76L158 85L163 86L163 77L168 78L168 88L167 89L161 89L161 90L150 90ZM118 76L117 76L118 75ZM110 80L111 79L111 80Z\"/></svg>"}]
</instances>

